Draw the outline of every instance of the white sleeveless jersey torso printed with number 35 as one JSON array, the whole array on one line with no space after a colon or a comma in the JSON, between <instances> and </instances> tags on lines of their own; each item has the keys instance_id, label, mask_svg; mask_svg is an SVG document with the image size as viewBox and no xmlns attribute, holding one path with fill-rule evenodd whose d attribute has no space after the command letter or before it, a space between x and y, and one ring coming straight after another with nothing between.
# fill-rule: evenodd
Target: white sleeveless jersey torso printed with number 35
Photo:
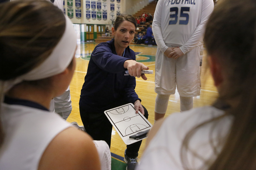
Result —
<instances>
[{"instance_id":1,"label":"white sleeveless jersey torso printed with number 35","mask_svg":"<svg viewBox=\"0 0 256 170\"><path fill-rule=\"evenodd\" d=\"M165 43L184 45L199 25L201 12L202 0L164 0L161 30Z\"/></svg>"}]
</instances>

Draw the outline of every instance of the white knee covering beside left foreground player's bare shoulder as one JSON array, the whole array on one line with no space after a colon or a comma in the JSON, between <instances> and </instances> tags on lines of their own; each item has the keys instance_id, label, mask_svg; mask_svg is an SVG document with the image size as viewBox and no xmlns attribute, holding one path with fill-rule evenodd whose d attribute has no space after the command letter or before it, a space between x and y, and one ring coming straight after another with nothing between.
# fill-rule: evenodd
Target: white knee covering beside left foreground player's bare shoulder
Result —
<instances>
[{"instance_id":1,"label":"white knee covering beside left foreground player's bare shoulder","mask_svg":"<svg viewBox=\"0 0 256 170\"><path fill-rule=\"evenodd\" d=\"M102 170L111 170L111 153L105 141L93 141L100 158Z\"/></svg>"}]
</instances>

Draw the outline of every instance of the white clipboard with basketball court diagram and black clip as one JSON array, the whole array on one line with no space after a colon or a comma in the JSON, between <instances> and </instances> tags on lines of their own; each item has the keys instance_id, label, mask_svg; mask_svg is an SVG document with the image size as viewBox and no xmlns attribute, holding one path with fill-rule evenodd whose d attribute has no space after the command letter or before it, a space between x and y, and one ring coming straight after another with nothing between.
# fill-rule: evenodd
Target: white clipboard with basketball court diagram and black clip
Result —
<instances>
[{"instance_id":1,"label":"white clipboard with basketball court diagram and black clip","mask_svg":"<svg viewBox=\"0 0 256 170\"><path fill-rule=\"evenodd\" d=\"M136 113L132 103L108 109L104 113L126 145L145 139L152 128L140 111Z\"/></svg>"}]
</instances>

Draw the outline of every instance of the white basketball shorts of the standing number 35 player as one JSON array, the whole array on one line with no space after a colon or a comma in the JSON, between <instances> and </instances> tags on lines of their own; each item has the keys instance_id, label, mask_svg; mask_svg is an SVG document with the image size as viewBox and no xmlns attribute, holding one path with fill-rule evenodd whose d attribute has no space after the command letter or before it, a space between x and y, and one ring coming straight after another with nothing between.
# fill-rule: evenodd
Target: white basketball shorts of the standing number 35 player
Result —
<instances>
[{"instance_id":1,"label":"white basketball shorts of the standing number 35 player","mask_svg":"<svg viewBox=\"0 0 256 170\"><path fill-rule=\"evenodd\" d=\"M200 47L195 47L178 59L166 57L157 48L155 92L175 94L176 86L182 97L200 95Z\"/></svg>"}]
</instances>

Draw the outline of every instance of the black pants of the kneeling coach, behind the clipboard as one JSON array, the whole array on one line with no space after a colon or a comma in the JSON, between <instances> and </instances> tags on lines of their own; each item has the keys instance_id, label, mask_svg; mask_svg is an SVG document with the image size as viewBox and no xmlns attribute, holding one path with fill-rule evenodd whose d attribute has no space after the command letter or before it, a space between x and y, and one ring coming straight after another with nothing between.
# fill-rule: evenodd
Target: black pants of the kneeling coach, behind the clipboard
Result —
<instances>
[{"instance_id":1,"label":"black pants of the kneeling coach, behind the clipboard","mask_svg":"<svg viewBox=\"0 0 256 170\"><path fill-rule=\"evenodd\" d=\"M124 104L127 104L122 101L115 102L109 109L112 109L114 107L122 106ZM148 119L148 111L144 108L144 116L146 119ZM79 106L80 109L80 116L82 119L82 122L84 124L84 128L86 132L97 141L106 141L108 143L108 146L110 147L111 143L111 133L112 133L112 124L104 114L105 110L91 110L86 109L82 106ZM106 109L107 110L107 109ZM138 151L140 149L142 141L138 141L136 143L133 143L131 145L127 145L126 149L126 155L130 158L135 158L138 156Z\"/></svg>"}]
</instances>

